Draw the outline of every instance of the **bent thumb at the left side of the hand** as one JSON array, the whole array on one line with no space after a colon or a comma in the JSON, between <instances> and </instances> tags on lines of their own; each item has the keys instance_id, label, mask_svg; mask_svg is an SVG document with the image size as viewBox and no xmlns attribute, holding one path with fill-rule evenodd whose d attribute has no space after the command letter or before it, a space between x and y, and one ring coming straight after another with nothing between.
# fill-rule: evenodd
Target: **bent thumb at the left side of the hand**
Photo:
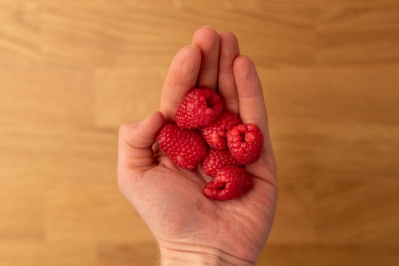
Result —
<instances>
[{"instance_id":1,"label":"bent thumb at the left side of the hand","mask_svg":"<svg viewBox=\"0 0 399 266\"><path fill-rule=\"evenodd\" d=\"M142 121L119 128L118 175L126 171L145 171L154 164L152 145L164 124L164 115L155 112Z\"/></svg>"}]
</instances>

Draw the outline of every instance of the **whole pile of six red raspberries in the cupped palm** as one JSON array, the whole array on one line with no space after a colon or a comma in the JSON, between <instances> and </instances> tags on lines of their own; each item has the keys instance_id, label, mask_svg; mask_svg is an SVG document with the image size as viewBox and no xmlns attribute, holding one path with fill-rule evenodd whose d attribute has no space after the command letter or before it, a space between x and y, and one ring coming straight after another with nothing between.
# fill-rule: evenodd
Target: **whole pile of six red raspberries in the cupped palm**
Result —
<instances>
[{"instance_id":1,"label":"whole pile of six red raspberries in the cupped palm","mask_svg":"<svg viewBox=\"0 0 399 266\"><path fill-rule=\"evenodd\" d=\"M253 124L224 108L220 96L208 88L191 90L180 103L175 124L166 124L157 136L159 147L186 169L198 164L213 177L203 189L212 200L238 198L253 185L243 168L260 157L263 135Z\"/></svg>"}]
</instances>

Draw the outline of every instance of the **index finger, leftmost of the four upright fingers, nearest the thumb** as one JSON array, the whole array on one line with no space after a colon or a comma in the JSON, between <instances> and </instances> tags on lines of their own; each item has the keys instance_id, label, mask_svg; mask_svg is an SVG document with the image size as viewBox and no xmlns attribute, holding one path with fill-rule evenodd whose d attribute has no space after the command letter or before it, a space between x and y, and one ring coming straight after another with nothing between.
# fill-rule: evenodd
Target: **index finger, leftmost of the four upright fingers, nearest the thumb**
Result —
<instances>
[{"instance_id":1,"label":"index finger, leftmost of the four upright fingers, nearest the thumb","mask_svg":"<svg viewBox=\"0 0 399 266\"><path fill-rule=\"evenodd\" d=\"M168 122L175 121L180 102L196 86L200 63L200 49L194 45L183 47L173 58L162 89L160 106Z\"/></svg>"}]
</instances>

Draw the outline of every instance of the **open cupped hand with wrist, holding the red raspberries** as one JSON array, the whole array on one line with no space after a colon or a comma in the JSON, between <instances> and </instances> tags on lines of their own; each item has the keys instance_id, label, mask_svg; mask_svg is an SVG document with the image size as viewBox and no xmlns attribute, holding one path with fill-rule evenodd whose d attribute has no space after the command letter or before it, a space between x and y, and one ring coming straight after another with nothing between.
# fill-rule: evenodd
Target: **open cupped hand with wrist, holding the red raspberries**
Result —
<instances>
[{"instance_id":1,"label":"open cupped hand with wrist, holding the red raspberries","mask_svg":"<svg viewBox=\"0 0 399 266\"><path fill-rule=\"evenodd\" d=\"M254 186L238 199L206 198L202 190L211 178L176 166L154 145L186 93L198 86L218 90L227 109L263 133L260 159L246 166ZM195 32L193 45L173 59L160 111L121 126L118 185L154 234L161 264L254 265L273 223L276 169L259 77L252 61L239 55L232 33L210 27Z\"/></svg>"}]
</instances>

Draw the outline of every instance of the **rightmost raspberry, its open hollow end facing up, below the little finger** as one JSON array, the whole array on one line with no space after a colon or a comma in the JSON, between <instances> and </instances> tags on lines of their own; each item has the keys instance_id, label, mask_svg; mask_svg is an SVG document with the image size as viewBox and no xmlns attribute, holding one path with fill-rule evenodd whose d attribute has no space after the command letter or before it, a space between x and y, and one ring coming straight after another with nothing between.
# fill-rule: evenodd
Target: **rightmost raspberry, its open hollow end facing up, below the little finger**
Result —
<instances>
[{"instance_id":1,"label":"rightmost raspberry, its open hollow end facing up, below the little finger","mask_svg":"<svg viewBox=\"0 0 399 266\"><path fill-rule=\"evenodd\" d=\"M257 161L263 147L263 135L253 124L239 125L227 132L227 146L234 159L242 164Z\"/></svg>"}]
</instances>

